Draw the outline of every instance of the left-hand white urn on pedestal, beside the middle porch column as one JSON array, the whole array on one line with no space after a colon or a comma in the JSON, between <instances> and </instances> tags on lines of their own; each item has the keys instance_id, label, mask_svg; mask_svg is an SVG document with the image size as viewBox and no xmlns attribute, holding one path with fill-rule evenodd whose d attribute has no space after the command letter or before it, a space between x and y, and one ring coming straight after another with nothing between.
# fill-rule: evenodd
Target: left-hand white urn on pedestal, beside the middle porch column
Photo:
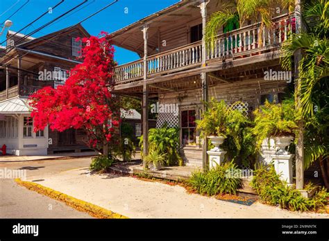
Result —
<instances>
[{"instance_id":1,"label":"left-hand white urn on pedestal, beside the middle porch column","mask_svg":"<svg viewBox=\"0 0 329 241\"><path fill-rule=\"evenodd\" d=\"M224 161L226 152L224 152L219 145L223 144L225 137L223 136L208 136L212 145L215 147L212 150L208 151L209 156L209 168L216 168L218 165L221 165Z\"/></svg>"}]
</instances>

